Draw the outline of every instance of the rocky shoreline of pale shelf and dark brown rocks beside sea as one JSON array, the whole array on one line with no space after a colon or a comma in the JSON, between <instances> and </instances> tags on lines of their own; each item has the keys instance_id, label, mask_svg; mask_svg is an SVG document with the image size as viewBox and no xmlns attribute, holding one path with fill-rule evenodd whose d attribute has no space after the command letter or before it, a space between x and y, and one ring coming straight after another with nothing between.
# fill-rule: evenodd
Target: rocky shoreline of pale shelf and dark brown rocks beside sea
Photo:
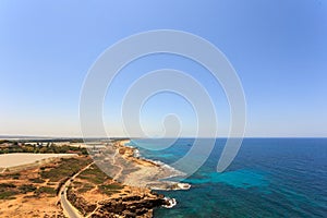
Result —
<instances>
[{"instance_id":1,"label":"rocky shoreline of pale shelf and dark brown rocks beside sea","mask_svg":"<svg viewBox=\"0 0 327 218\"><path fill-rule=\"evenodd\" d=\"M124 187L105 199L92 203L78 193L68 193L70 202L87 217L153 217L153 209L164 206L171 208L177 204L173 198L155 193L153 190L187 190L186 183L162 181L161 179L178 174L177 170L161 164L141 158L137 149L125 144L130 141L116 141L93 156L96 165L111 177L111 182ZM83 181L82 181L83 182ZM90 192L93 198L97 193ZM89 198L89 197L87 197ZM80 209L81 210L81 209Z\"/></svg>"}]
</instances>

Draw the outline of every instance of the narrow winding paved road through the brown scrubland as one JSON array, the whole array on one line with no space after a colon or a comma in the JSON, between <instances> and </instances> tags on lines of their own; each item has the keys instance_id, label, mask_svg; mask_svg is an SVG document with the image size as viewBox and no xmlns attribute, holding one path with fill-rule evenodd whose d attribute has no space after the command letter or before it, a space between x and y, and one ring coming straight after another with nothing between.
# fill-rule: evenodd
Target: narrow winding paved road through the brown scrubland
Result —
<instances>
[{"instance_id":1,"label":"narrow winding paved road through the brown scrubland","mask_svg":"<svg viewBox=\"0 0 327 218\"><path fill-rule=\"evenodd\" d=\"M66 190L68 186L71 184L71 180L75 179L81 172L89 168L94 162L89 164L82 170L80 170L76 174L71 177L61 187L60 190L60 203L63 209L63 213L69 217L69 218L82 218L83 216L78 213L78 210L68 201L66 198Z\"/></svg>"}]
</instances>

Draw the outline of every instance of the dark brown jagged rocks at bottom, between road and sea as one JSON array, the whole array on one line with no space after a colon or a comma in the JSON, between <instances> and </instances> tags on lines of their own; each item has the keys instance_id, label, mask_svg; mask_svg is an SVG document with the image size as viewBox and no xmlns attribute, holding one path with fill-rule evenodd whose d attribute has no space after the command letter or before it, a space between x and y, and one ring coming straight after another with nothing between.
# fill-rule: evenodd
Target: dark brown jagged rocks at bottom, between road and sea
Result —
<instances>
[{"instance_id":1,"label":"dark brown jagged rocks at bottom, between road and sea","mask_svg":"<svg viewBox=\"0 0 327 218\"><path fill-rule=\"evenodd\" d=\"M97 198L95 192L89 193ZM171 208L170 198L157 194L148 189L125 185L119 193L105 199L92 201L76 190L69 189L68 199L84 217L153 217L153 209L165 206Z\"/></svg>"}]
</instances>

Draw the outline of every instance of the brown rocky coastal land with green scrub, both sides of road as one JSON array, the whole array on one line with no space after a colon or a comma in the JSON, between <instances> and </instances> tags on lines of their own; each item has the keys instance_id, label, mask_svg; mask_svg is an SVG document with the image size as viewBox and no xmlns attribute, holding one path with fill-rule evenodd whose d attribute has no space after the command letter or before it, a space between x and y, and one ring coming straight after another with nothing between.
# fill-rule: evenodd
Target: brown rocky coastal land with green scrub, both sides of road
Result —
<instances>
[{"instance_id":1,"label":"brown rocky coastal land with green scrub, both sides of road","mask_svg":"<svg viewBox=\"0 0 327 218\"><path fill-rule=\"evenodd\" d=\"M154 208L173 207L175 199L154 190L190 186L162 181L179 172L161 162L140 157L136 148L125 146L128 142L116 141L108 146L99 143L99 148L89 150L89 156L72 155L51 162L39 161L19 172L1 173L2 195L8 198L0 201L0 215L64 217L60 206L62 196L66 196L83 217L148 218L153 217ZM64 181L70 181L65 193L60 190Z\"/></svg>"}]
</instances>

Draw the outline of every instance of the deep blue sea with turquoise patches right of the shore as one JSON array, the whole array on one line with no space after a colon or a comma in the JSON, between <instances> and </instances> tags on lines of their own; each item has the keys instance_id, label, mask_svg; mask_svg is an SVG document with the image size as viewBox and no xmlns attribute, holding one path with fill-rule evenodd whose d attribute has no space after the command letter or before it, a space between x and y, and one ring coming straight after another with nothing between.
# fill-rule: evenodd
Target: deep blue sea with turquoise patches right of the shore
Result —
<instances>
[{"instance_id":1,"label":"deep blue sea with turquoise patches right of the shore","mask_svg":"<svg viewBox=\"0 0 327 218\"><path fill-rule=\"evenodd\" d=\"M145 158L172 164L193 141L180 138L157 152L137 146L145 141L131 144ZM327 217L327 138L245 138L231 166L218 173L225 142L218 138L205 165L185 180L190 190L159 192L178 204L155 209L155 217Z\"/></svg>"}]
</instances>

